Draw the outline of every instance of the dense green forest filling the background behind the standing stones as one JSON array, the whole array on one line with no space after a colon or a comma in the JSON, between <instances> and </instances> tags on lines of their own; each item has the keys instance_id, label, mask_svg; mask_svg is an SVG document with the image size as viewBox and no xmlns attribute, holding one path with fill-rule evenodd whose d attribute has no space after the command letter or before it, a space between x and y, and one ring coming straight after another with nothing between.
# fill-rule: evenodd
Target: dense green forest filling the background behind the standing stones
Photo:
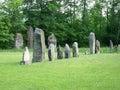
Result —
<instances>
[{"instance_id":1,"label":"dense green forest filling the background behind the standing stones","mask_svg":"<svg viewBox=\"0 0 120 90\"><path fill-rule=\"evenodd\" d=\"M57 43L78 42L88 46L94 32L102 46L120 44L120 0L5 0L0 2L0 48L14 48L14 36L22 33L27 44L27 29L41 28L45 39L54 34Z\"/></svg>"}]
</instances>

